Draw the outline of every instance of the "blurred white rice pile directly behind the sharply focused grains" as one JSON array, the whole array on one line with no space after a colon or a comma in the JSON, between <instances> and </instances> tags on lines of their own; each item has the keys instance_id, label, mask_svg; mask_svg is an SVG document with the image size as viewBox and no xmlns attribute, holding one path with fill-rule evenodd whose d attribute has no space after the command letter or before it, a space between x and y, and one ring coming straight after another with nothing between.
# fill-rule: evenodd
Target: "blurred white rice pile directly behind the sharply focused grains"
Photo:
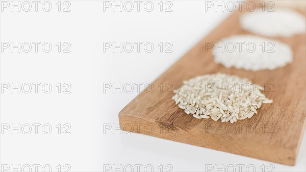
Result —
<instances>
[{"instance_id":1,"label":"blurred white rice pile directly behind the sharply focused grains","mask_svg":"<svg viewBox=\"0 0 306 172\"><path fill-rule=\"evenodd\" d=\"M291 63L293 57L287 44L252 35L223 38L214 46L213 54L216 63L245 70L273 70Z\"/></svg>"}]
</instances>

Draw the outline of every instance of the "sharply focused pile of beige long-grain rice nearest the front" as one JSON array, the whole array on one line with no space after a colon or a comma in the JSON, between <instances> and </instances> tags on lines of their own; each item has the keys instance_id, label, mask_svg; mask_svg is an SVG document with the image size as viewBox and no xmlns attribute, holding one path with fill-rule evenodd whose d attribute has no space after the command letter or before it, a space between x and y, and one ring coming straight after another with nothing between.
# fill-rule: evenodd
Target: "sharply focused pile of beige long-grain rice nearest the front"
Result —
<instances>
[{"instance_id":1,"label":"sharply focused pile of beige long-grain rice nearest the front","mask_svg":"<svg viewBox=\"0 0 306 172\"><path fill-rule=\"evenodd\" d=\"M238 76L216 73L192 78L173 92L172 99L185 113L231 123L251 118L264 103L272 103L259 85Z\"/></svg>"}]
</instances>

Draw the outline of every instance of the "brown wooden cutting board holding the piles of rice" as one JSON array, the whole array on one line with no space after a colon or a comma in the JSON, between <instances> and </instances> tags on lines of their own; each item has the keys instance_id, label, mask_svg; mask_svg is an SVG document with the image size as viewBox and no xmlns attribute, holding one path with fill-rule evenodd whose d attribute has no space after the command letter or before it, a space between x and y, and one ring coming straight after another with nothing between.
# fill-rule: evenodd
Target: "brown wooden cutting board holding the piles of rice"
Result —
<instances>
[{"instance_id":1,"label":"brown wooden cutting board holding the piles of rice","mask_svg":"<svg viewBox=\"0 0 306 172\"><path fill-rule=\"evenodd\" d=\"M244 12L245 9L233 12L124 107L119 113L121 130L294 165L305 129L306 37L302 34L274 38L289 44L294 52L293 63L282 68L246 71L216 64L213 48L208 48L206 43L250 34L239 24ZM252 118L234 124L196 119L175 105L172 91L181 87L184 80L216 72L248 78L259 85L264 83L265 95L274 102L264 104Z\"/></svg>"}]
</instances>

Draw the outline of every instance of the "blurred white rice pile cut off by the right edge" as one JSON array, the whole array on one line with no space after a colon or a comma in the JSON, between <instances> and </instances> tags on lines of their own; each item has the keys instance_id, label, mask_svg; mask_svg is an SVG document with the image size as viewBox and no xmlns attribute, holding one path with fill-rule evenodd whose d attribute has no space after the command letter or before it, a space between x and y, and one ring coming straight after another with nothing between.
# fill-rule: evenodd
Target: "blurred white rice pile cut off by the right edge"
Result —
<instances>
[{"instance_id":1,"label":"blurred white rice pile cut off by the right edge","mask_svg":"<svg viewBox=\"0 0 306 172\"><path fill-rule=\"evenodd\" d=\"M257 9L246 12L240 18L241 26L249 32L268 37L290 37L305 33L305 17L286 8L273 8L275 11Z\"/></svg>"}]
</instances>

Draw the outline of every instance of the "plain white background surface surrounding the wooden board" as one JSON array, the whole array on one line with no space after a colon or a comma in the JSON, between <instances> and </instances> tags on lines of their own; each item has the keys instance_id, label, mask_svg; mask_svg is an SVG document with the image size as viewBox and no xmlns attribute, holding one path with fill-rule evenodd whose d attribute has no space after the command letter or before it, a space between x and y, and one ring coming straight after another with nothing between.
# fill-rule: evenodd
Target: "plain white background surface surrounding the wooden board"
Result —
<instances>
[{"instance_id":1,"label":"plain white background surface surrounding the wooden board","mask_svg":"<svg viewBox=\"0 0 306 172\"><path fill-rule=\"evenodd\" d=\"M170 167L171 171L204 171L209 166L213 166L212 171L217 168L232 171L232 166L239 171L239 164L244 164L243 171L247 165L249 171L253 171L252 166L257 171L269 171L272 167L273 171L306 170L305 136L296 165L287 166L118 130L118 112L139 92L134 85L131 93L124 90L120 93L120 89L104 93L104 83L120 86L120 83L154 81L230 12L213 9L206 12L204 1L171 1L172 12L165 12L169 6L165 2L160 12L160 1L153 2L151 12L146 12L143 5L140 12L136 7L132 12L124 9L120 12L119 8L115 12L112 8L104 11L103 1L68 1L70 12L63 12L67 4L61 2L58 12L58 1L50 2L53 6L49 12L43 11L41 1L37 12L32 3L30 12L22 9L18 12L17 8L11 12L9 7L0 13L1 42L50 42L53 46L49 53L43 52L41 44L37 53L34 44L30 53L22 50L18 53L17 48L13 52L7 48L1 53L2 84L41 84L37 93L34 85L30 93L25 93L28 87L20 93L17 89L13 93L10 89L1 93L1 124L32 126L30 134L24 133L29 130L26 126L20 127L20 134L17 129L2 129L2 165L16 168L20 164L20 168L28 169L25 164L29 164L32 171L35 171L34 164L40 165L38 170L48 164L53 171L68 167L70 171L103 171L109 166L114 171L120 165L121 170L124 167L130 170L132 165L137 171L137 164L142 165L142 171L146 165L147 171L150 167L156 171L167 171ZM115 53L111 49L103 52L103 42L137 41L152 42L154 51L146 53L141 46L140 53L136 47L132 53L124 50L120 53L118 48ZM58 53L58 42L69 42L71 52L63 53L66 46L62 45ZM173 52L161 53L160 42L171 42ZM52 85L50 93L43 92L44 83ZM60 93L58 83L61 83ZM64 86L64 83L68 84ZM70 93L63 93L67 85L71 86ZM140 89L143 90L143 85ZM37 134L33 124L40 125ZM45 124L52 126L50 134L44 133L47 127L42 130ZM111 129L106 130L109 126Z\"/></svg>"}]
</instances>

